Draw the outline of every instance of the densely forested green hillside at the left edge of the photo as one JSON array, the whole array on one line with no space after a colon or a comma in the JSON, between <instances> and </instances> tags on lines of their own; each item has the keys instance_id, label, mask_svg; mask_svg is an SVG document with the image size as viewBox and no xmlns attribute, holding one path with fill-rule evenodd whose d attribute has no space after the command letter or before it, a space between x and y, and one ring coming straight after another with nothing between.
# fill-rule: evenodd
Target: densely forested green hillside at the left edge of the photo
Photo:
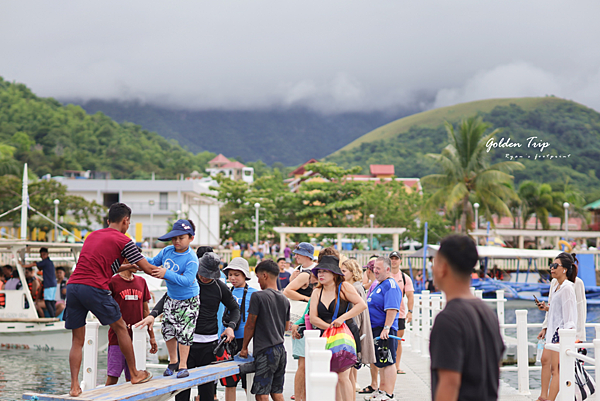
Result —
<instances>
[{"instance_id":1,"label":"densely forested green hillside at the left edge of the photo","mask_svg":"<svg viewBox=\"0 0 600 401\"><path fill-rule=\"evenodd\" d=\"M40 98L23 84L0 77L0 144L38 176L65 170L108 171L114 178L175 179L203 172L215 156L197 155L177 141L132 123L116 123L103 113L87 114L75 105ZM2 155L0 155L2 156ZM6 157L6 155L4 155Z\"/></svg>"}]
</instances>

